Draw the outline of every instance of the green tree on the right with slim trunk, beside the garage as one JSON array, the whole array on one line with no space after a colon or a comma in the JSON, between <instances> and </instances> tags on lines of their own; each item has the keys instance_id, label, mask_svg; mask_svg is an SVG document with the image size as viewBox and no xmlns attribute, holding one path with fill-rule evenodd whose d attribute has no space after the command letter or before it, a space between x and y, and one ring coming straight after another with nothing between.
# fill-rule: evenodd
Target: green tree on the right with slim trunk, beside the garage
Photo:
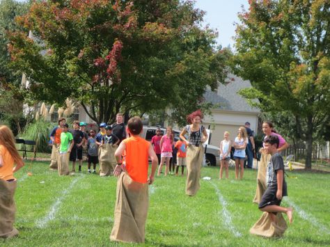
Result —
<instances>
[{"instance_id":1,"label":"green tree on the right with slim trunk, beside the garage","mask_svg":"<svg viewBox=\"0 0 330 247\"><path fill-rule=\"evenodd\" d=\"M241 93L258 98L254 104L262 111L292 115L294 132L306 142L310 169L312 143L330 120L330 2L249 3L239 15L233 68L253 88Z\"/></svg>"}]
</instances>

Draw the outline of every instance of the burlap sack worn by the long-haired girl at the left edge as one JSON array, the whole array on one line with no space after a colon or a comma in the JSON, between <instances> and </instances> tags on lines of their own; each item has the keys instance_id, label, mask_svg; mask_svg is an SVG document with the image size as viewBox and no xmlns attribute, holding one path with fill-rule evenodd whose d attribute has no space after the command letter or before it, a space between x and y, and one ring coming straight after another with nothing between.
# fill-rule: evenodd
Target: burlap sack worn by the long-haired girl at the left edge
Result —
<instances>
[{"instance_id":1,"label":"burlap sack worn by the long-haired girl at the left edge","mask_svg":"<svg viewBox=\"0 0 330 247\"><path fill-rule=\"evenodd\" d=\"M15 201L14 194L17 182L0 180L0 237L7 239L18 234L14 228Z\"/></svg>"}]
</instances>

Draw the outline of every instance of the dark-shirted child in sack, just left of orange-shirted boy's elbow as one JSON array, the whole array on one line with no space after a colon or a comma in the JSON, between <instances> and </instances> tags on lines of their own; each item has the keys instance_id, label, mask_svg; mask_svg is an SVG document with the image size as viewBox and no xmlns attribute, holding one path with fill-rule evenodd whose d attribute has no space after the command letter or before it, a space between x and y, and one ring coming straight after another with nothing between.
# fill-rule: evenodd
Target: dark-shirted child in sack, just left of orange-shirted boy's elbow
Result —
<instances>
[{"instance_id":1,"label":"dark-shirted child in sack, just left of orange-shirted boy's elbow","mask_svg":"<svg viewBox=\"0 0 330 247\"><path fill-rule=\"evenodd\" d=\"M100 177L113 174L116 166L115 151L118 147L119 139L111 133L111 125L105 127L106 134L102 138L99 147Z\"/></svg>"}]
</instances>

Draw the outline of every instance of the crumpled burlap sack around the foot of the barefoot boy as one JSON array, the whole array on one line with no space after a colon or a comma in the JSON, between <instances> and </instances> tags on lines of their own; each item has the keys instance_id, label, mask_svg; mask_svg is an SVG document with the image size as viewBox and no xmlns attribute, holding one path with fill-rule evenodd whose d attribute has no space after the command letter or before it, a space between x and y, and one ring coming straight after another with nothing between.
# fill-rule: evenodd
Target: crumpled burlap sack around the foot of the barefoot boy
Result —
<instances>
[{"instance_id":1,"label":"crumpled burlap sack around the foot of the barefoot boy","mask_svg":"<svg viewBox=\"0 0 330 247\"><path fill-rule=\"evenodd\" d=\"M282 237L287 228L288 225L281 213L276 214L276 223L274 223L269 213L264 212L250 229L250 233L262 237Z\"/></svg>"}]
</instances>

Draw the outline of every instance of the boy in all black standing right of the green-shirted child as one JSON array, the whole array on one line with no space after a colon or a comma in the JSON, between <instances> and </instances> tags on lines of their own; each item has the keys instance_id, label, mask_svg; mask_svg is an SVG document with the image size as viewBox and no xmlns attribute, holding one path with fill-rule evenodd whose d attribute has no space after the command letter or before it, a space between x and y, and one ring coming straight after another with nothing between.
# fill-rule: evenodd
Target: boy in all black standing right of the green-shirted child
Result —
<instances>
[{"instance_id":1,"label":"boy in all black standing right of the green-shirted child","mask_svg":"<svg viewBox=\"0 0 330 247\"><path fill-rule=\"evenodd\" d=\"M70 152L70 161L72 161L72 173L76 172L76 160L77 158L82 159L82 145L85 142L85 136L83 132L79 129L79 121L75 120L73 121L73 130L71 131L71 134L73 136L74 145ZM78 157L78 154L81 154L81 157ZM81 166L79 164L79 172L81 171Z\"/></svg>"}]
</instances>

